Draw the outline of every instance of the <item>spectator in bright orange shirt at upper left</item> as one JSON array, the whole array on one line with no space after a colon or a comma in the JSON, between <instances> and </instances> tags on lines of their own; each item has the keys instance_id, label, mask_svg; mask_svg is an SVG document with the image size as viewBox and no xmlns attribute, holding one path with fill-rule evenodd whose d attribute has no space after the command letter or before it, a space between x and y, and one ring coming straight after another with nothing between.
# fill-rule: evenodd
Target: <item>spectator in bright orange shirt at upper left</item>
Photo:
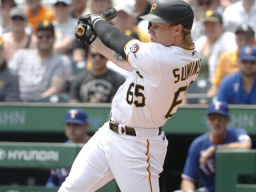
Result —
<instances>
[{"instance_id":1,"label":"spectator in bright orange shirt at upper left","mask_svg":"<svg viewBox=\"0 0 256 192\"><path fill-rule=\"evenodd\" d=\"M40 0L26 0L26 5L24 11L28 15L28 22L32 25L34 34L36 34L38 23L43 20L52 21L54 19L53 10L43 7Z\"/></svg>"}]
</instances>

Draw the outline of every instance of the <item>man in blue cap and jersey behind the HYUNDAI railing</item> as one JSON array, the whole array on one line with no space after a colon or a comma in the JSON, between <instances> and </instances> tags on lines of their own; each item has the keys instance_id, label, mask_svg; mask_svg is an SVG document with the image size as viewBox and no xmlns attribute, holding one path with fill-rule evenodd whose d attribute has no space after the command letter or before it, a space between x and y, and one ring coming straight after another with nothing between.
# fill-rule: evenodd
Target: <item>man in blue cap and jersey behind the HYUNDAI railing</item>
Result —
<instances>
[{"instance_id":1,"label":"man in blue cap and jersey behind the HYUNDAI railing","mask_svg":"<svg viewBox=\"0 0 256 192\"><path fill-rule=\"evenodd\" d=\"M65 135L68 140L65 143L86 143L91 136L86 132L89 123L87 114L79 108L69 109L65 116ZM65 181L70 169L52 169L45 185L47 188L60 187Z\"/></svg>"}]
</instances>

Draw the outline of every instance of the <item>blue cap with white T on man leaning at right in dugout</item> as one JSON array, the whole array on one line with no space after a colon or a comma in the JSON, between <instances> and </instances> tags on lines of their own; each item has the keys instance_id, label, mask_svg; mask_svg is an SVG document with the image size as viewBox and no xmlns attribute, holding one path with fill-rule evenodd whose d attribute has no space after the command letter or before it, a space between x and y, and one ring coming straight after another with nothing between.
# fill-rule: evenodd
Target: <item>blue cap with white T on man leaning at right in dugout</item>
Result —
<instances>
[{"instance_id":1,"label":"blue cap with white T on man leaning at right in dugout","mask_svg":"<svg viewBox=\"0 0 256 192\"><path fill-rule=\"evenodd\" d=\"M208 115L218 113L226 117L229 116L228 103L226 101L214 101L209 104Z\"/></svg>"}]
</instances>

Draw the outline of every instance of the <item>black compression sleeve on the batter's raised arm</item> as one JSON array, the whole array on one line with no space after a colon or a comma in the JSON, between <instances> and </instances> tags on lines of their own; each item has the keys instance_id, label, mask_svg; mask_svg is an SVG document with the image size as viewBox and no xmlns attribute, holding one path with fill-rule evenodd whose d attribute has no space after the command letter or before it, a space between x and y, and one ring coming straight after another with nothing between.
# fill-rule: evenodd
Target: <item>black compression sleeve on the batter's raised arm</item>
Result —
<instances>
[{"instance_id":1,"label":"black compression sleeve on the batter's raised arm","mask_svg":"<svg viewBox=\"0 0 256 192\"><path fill-rule=\"evenodd\" d=\"M124 35L117 27L109 24L106 20L96 19L95 21L93 22L93 28L101 42L126 60L124 46L134 38Z\"/></svg>"}]
</instances>

